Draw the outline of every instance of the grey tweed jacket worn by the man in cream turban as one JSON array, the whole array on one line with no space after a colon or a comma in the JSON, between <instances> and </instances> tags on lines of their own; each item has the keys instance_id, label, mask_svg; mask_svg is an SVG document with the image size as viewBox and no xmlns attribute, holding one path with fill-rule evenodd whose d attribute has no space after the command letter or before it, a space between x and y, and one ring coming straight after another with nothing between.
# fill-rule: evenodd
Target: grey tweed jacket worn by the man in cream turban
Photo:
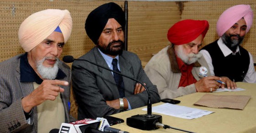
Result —
<instances>
[{"instance_id":1,"label":"grey tweed jacket worn by the man in cream turban","mask_svg":"<svg viewBox=\"0 0 256 133\"><path fill-rule=\"evenodd\" d=\"M34 91L33 82L20 82L20 57L15 56L0 63L0 133L37 133L37 107L33 107L32 125L27 124L21 105L21 98ZM63 62L59 68L67 75L64 81L70 82L70 68ZM68 102L70 87L60 93L65 109L65 122L70 122ZM72 118L74 120L74 118Z\"/></svg>"}]
</instances>

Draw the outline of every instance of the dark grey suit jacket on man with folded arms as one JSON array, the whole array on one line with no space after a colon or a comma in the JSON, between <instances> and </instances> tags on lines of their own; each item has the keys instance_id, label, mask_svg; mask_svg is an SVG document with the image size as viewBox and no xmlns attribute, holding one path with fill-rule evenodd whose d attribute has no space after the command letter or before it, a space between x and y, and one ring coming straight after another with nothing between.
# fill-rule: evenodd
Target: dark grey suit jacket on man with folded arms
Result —
<instances>
[{"instance_id":1,"label":"dark grey suit jacket on man with folded arms","mask_svg":"<svg viewBox=\"0 0 256 133\"><path fill-rule=\"evenodd\" d=\"M97 47L79 59L86 59L109 68ZM123 54L119 55L119 66L121 73L146 83L152 103L160 102L157 88L149 81L137 55L123 51ZM136 82L126 77L123 77L123 81L125 97L131 107L145 106L148 99L147 92L133 95ZM116 82L110 71L96 67L86 61L75 61L72 65L72 86L78 103L78 119L103 117L120 112L119 109L114 109L106 103L106 101L119 98Z\"/></svg>"}]
</instances>

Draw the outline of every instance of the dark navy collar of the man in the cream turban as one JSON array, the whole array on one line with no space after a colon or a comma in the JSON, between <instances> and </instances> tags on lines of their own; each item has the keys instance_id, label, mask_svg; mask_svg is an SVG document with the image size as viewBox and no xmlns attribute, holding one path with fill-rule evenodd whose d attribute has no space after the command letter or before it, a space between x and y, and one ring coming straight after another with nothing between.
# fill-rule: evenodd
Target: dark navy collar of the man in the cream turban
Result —
<instances>
[{"instance_id":1,"label":"dark navy collar of the man in the cream turban","mask_svg":"<svg viewBox=\"0 0 256 133\"><path fill-rule=\"evenodd\" d=\"M36 82L37 84L41 84L43 82L43 79L41 79L34 69L29 65L27 60L27 52L21 56L20 62L21 82ZM67 75L59 69L55 79L63 79L64 77L67 77Z\"/></svg>"}]
</instances>

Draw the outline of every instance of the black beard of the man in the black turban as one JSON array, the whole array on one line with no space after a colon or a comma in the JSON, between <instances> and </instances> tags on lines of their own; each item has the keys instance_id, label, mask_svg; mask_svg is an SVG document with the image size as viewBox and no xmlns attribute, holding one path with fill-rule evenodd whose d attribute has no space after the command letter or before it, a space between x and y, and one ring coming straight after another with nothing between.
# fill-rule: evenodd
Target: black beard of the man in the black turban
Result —
<instances>
[{"instance_id":1,"label":"black beard of the man in the black turban","mask_svg":"<svg viewBox=\"0 0 256 133\"><path fill-rule=\"evenodd\" d=\"M116 51L113 51L112 49L110 49L110 46L113 44L113 43L116 43L116 42L120 42L121 45L119 46L120 49L119 50L116 50ZM97 47L106 55L111 55L111 56L117 56L117 55L121 55L123 53L123 47L124 47L124 43L123 41L121 40L118 40L118 41L111 41L107 47L102 47L100 45L97 45Z\"/></svg>"}]
</instances>

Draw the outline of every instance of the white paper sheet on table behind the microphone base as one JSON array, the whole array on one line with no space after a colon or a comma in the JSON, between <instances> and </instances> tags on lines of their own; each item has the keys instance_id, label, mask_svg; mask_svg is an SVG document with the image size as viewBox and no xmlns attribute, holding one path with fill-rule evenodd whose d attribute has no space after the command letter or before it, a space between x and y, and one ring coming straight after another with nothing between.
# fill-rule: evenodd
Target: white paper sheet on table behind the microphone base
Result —
<instances>
[{"instance_id":1,"label":"white paper sheet on table behind the microphone base","mask_svg":"<svg viewBox=\"0 0 256 133\"><path fill-rule=\"evenodd\" d=\"M143 108L142 110L146 111L147 108ZM170 115L178 118L185 118L185 119L200 118L202 116L213 113L207 110L202 110L202 109L197 109L192 107L185 107L185 106L180 106L180 105L175 105L170 103L164 103L159 106L152 107L152 112Z\"/></svg>"}]
</instances>

